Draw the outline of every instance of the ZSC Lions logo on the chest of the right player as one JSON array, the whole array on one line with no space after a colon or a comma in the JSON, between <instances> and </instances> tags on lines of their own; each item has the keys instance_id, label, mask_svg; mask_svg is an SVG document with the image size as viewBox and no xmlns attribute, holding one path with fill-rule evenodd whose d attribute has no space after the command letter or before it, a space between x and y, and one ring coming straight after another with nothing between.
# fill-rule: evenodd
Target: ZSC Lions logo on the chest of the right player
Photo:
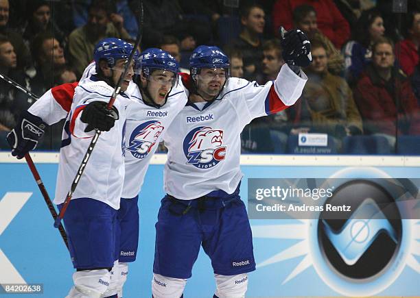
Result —
<instances>
[{"instance_id":1,"label":"ZSC Lions logo on the chest of the right player","mask_svg":"<svg viewBox=\"0 0 420 298\"><path fill-rule=\"evenodd\" d=\"M198 169L209 169L224 160L226 147L222 147L223 131L208 126L197 127L184 139L184 154L187 164Z\"/></svg>"}]
</instances>

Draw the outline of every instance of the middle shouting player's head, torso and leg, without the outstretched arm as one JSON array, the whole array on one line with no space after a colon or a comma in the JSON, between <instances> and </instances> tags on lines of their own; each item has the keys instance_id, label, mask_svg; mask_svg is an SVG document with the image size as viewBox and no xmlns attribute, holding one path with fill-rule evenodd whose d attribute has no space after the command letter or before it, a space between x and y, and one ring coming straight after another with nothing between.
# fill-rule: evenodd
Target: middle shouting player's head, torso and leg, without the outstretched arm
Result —
<instances>
[{"instance_id":1,"label":"middle shouting player's head, torso and leg, without the outstretched arm","mask_svg":"<svg viewBox=\"0 0 420 298\"><path fill-rule=\"evenodd\" d=\"M141 75L135 78L139 88L132 92L136 102L126 124L126 175L118 212L119 264L114 273L119 275L118 297L127 276L127 263L133 262L137 255L137 201L145 173L163 134L187 103L183 86L178 84L178 62L172 55L161 49L146 49L140 54L140 61Z\"/></svg>"}]
</instances>

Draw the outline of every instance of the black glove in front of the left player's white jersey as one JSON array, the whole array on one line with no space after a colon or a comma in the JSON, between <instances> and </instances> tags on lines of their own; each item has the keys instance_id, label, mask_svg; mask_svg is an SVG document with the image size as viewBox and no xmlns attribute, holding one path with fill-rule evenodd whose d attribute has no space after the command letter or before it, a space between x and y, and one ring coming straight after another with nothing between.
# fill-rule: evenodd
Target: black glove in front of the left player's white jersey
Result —
<instances>
[{"instance_id":1,"label":"black glove in front of the left player's white jersey","mask_svg":"<svg viewBox=\"0 0 420 298\"><path fill-rule=\"evenodd\" d=\"M115 120L118 120L118 110L114 106L108 110L107 105L105 101L92 101L86 105L80 116L80 120L87 124L84 132L90 132L93 129L108 132L113 128Z\"/></svg>"}]
</instances>

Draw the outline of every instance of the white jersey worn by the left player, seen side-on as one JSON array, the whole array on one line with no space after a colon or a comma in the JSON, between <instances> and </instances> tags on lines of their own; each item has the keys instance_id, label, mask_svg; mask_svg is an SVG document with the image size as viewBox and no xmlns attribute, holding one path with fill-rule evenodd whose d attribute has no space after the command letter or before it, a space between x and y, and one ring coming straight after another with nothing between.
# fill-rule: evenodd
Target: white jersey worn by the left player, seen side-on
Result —
<instances>
[{"instance_id":1,"label":"white jersey worn by the left player, seen side-on","mask_svg":"<svg viewBox=\"0 0 420 298\"><path fill-rule=\"evenodd\" d=\"M75 88L73 103L62 133L54 203L65 201L71 182L95 134L95 131L84 132L86 124L80 121L84 107L92 101L108 102L112 93L113 88L104 81L86 82ZM109 132L102 132L98 138L72 199L89 197L119 209L124 179L124 126L126 110L131 101L124 93L117 96L114 106L119 112L119 119Z\"/></svg>"}]
</instances>

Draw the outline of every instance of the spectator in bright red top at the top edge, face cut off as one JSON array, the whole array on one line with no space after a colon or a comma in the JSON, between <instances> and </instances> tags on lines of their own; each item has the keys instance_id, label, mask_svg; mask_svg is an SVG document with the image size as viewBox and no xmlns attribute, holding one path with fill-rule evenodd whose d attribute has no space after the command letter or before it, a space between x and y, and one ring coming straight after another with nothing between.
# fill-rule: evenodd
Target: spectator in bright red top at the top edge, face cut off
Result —
<instances>
[{"instance_id":1,"label":"spectator in bright red top at the top edge, face cut off","mask_svg":"<svg viewBox=\"0 0 420 298\"><path fill-rule=\"evenodd\" d=\"M302 4L314 7L320 32L323 32L337 49L341 49L349 39L350 27L332 0L277 0L272 8L272 24L275 32L280 25L286 30L292 29L292 12L296 6Z\"/></svg>"}]
</instances>

